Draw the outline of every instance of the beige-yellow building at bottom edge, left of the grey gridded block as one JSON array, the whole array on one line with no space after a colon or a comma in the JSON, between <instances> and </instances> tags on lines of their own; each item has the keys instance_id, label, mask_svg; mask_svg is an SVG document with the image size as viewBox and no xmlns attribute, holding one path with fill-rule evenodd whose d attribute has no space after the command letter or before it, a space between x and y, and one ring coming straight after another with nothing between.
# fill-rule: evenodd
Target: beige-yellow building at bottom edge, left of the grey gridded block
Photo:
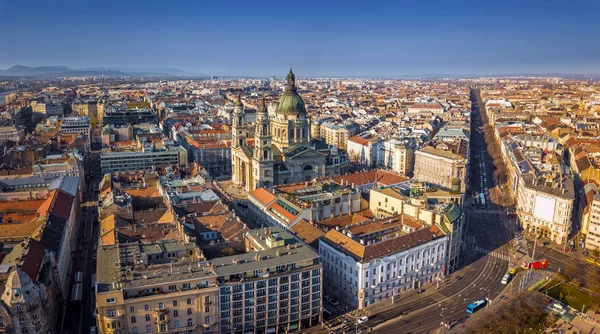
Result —
<instances>
[{"instance_id":1,"label":"beige-yellow building at bottom edge, left of the grey gridded block","mask_svg":"<svg viewBox=\"0 0 600 334\"><path fill-rule=\"evenodd\" d=\"M217 276L192 243L98 248L100 333L218 333Z\"/></svg>"}]
</instances>

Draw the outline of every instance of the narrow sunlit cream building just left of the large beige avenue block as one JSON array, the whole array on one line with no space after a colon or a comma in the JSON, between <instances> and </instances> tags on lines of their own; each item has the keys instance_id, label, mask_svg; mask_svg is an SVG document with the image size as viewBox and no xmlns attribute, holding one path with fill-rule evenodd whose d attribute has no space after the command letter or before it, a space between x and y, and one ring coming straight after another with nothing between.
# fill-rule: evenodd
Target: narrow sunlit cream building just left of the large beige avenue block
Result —
<instances>
[{"instance_id":1,"label":"narrow sunlit cream building just left of the large beige avenue block","mask_svg":"<svg viewBox=\"0 0 600 334\"><path fill-rule=\"evenodd\" d=\"M401 175L412 175L415 162L415 143L389 139L383 143L382 167Z\"/></svg>"}]
</instances>

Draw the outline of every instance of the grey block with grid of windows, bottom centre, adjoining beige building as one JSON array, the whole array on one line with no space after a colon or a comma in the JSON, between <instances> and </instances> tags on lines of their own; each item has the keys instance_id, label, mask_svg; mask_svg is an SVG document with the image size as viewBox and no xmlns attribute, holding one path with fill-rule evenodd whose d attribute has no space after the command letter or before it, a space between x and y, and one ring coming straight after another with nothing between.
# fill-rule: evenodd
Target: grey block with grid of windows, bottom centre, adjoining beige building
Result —
<instances>
[{"instance_id":1,"label":"grey block with grid of windows, bottom centre, adjoining beige building","mask_svg":"<svg viewBox=\"0 0 600 334\"><path fill-rule=\"evenodd\" d=\"M319 254L281 228L252 230L245 254L212 260L220 332L301 332L322 321Z\"/></svg>"}]
</instances>

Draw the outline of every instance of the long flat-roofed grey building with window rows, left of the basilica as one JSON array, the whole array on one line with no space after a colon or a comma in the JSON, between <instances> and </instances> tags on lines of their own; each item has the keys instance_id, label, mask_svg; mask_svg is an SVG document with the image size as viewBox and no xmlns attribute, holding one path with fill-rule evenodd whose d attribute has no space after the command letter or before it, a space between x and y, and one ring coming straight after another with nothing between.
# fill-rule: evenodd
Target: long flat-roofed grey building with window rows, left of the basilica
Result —
<instances>
[{"instance_id":1,"label":"long flat-roofed grey building with window rows, left of the basilica","mask_svg":"<svg viewBox=\"0 0 600 334\"><path fill-rule=\"evenodd\" d=\"M169 143L144 145L140 150L105 152L100 155L103 173L152 170L157 166L185 166L187 151Z\"/></svg>"}]
</instances>

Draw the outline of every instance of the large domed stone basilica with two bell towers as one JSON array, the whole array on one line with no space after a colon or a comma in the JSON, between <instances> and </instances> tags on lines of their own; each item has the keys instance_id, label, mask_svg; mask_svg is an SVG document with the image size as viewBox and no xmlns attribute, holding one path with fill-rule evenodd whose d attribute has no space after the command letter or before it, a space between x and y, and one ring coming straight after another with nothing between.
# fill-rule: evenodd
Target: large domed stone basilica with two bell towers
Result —
<instances>
[{"instance_id":1,"label":"large domed stone basilica with two bell towers","mask_svg":"<svg viewBox=\"0 0 600 334\"><path fill-rule=\"evenodd\" d=\"M275 111L269 115L265 100L256 112L254 146L248 146L248 124L238 95L232 116L231 170L235 184L246 190L309 181L347 172L345 151L311 139L310 118L296 90L292 70Z\"/></svg>"}]
</instances>

